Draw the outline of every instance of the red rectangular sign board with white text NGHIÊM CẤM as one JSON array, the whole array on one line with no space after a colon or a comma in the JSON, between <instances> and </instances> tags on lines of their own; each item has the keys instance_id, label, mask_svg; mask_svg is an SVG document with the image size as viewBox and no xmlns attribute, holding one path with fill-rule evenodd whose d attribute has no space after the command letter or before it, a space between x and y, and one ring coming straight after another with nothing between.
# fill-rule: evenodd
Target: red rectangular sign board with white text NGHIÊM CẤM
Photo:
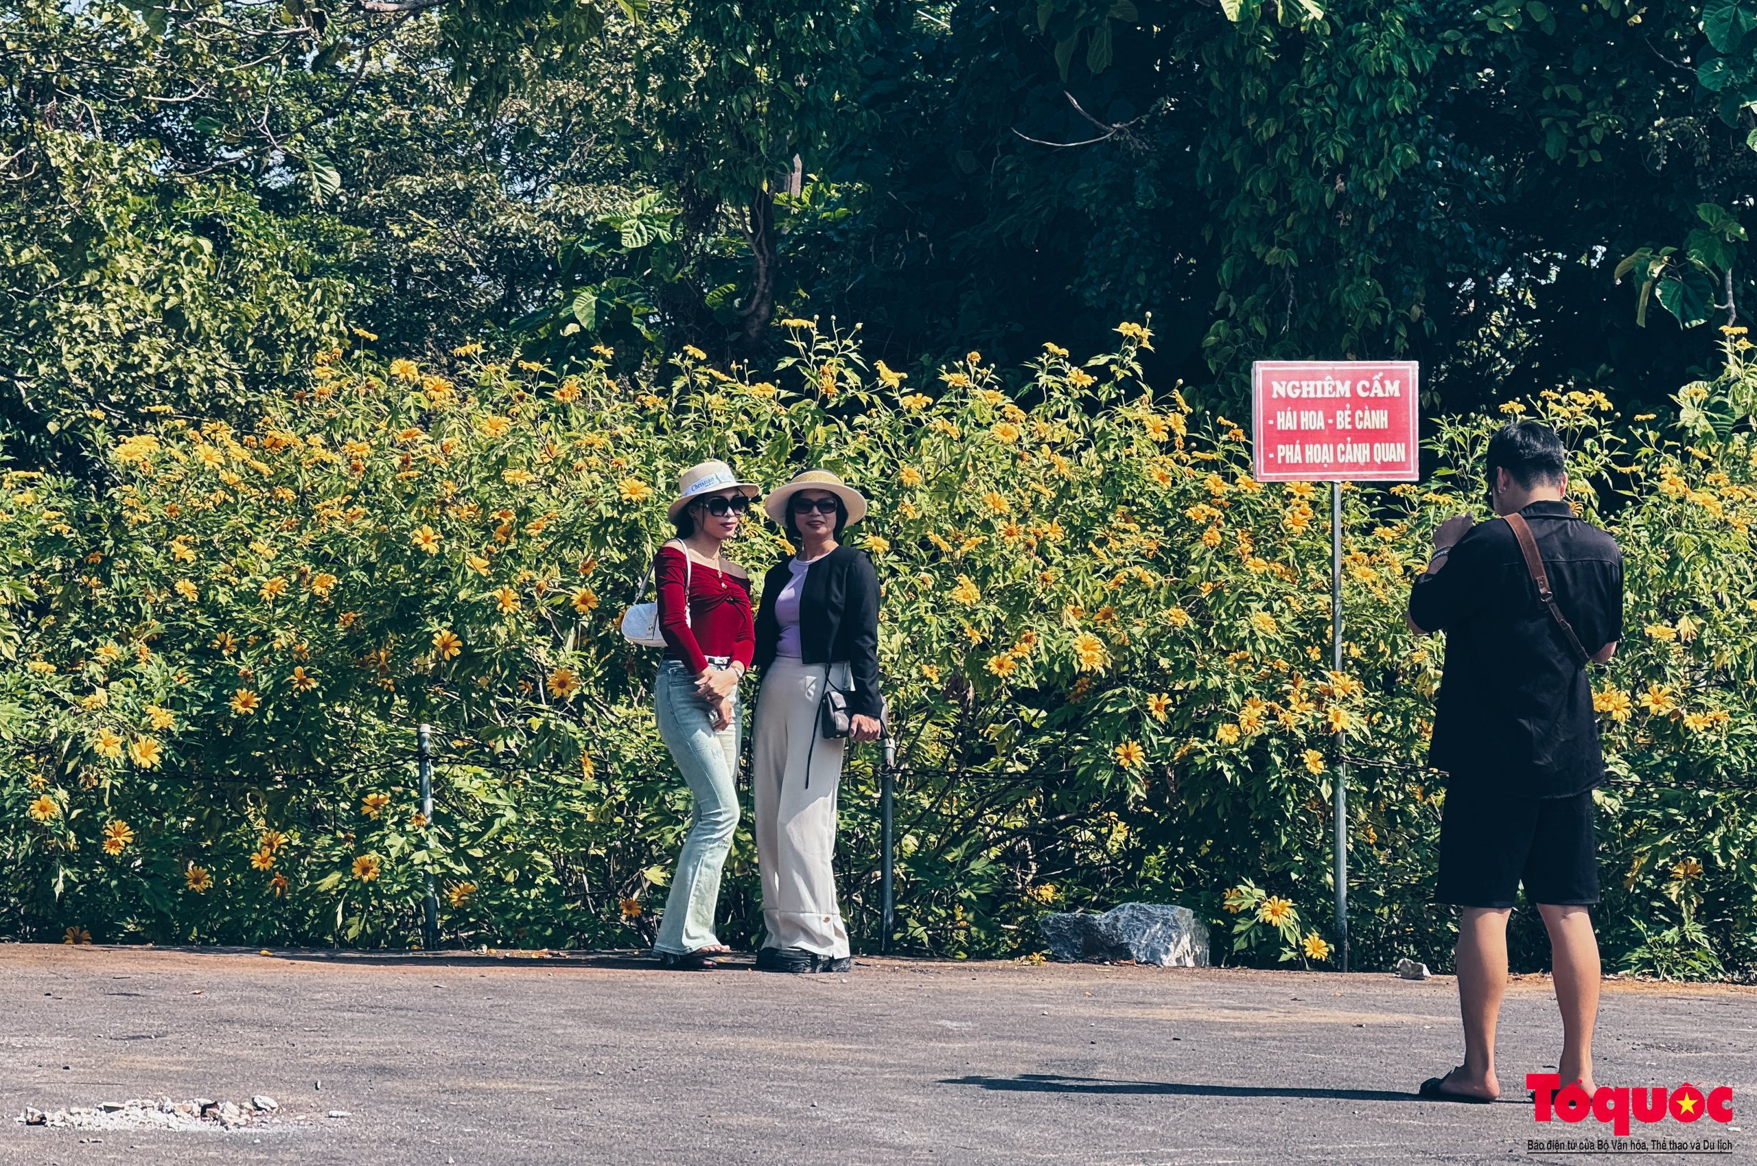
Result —
<instances>
[{"instance_id":1,"label":"red rectangular sign board with white text NGHI\u00caM C\u1ea4M","mask_svg":"<svg viewBox=\"0 0 1757 1166\"><path fill-rule=\"evenodd\" d=\"M1414 360L1258 360L1251 441L1258 481L1416 481Z\"/></svg>"}]
</instances>

